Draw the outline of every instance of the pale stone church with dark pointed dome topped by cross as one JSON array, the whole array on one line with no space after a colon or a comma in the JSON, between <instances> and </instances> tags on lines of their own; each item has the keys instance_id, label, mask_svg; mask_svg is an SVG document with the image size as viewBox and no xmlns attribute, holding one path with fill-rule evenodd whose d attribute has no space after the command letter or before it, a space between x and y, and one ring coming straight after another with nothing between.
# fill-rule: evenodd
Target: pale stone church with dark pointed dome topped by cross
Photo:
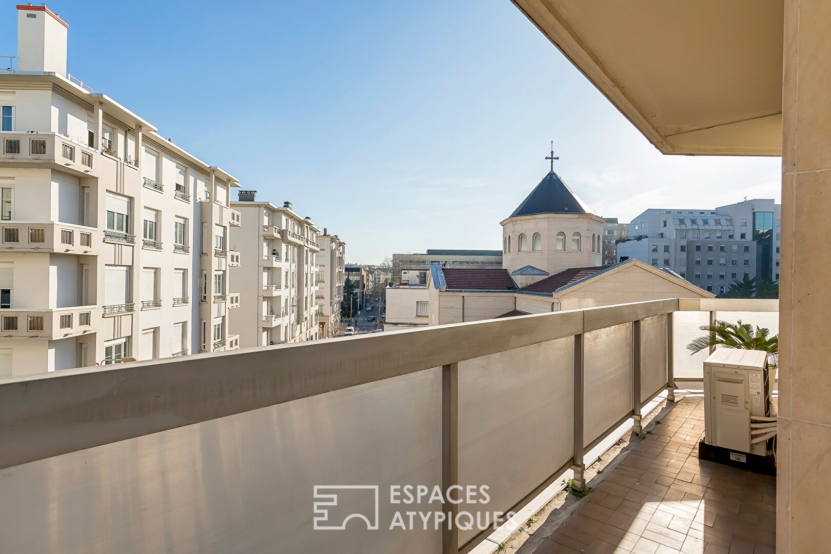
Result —
<instances>
[{"instance_id":1,"label":"pale stone church with dark pointed dome topped by cross","mask_svg":"<svg viewBox=\"0 0 831 554\"><path fill-rule=\"evenodd\" d=\"M502 269L433 265L430 325L642 302L712 298L667 269L637 259L602 265L605 219L551 169L502 225Z\"/></svg>"}]
</instances>

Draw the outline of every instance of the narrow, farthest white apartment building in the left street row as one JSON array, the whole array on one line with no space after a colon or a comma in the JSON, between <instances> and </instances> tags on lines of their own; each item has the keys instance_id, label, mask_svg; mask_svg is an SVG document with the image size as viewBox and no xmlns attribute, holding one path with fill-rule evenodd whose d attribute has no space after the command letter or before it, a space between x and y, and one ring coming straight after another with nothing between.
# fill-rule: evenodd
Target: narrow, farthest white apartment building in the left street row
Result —
<instances>
[{"instance_id":1,"label":"narrow, farthest white apartment building in the left street row","mask_svg":"<svg viewBox=\"0 0 831 554\"><path fill-rule=\"evenodd\" d=\"M317 236L317 274L315 301L317 302L318 336L335 336L341 324L341 302L343 301L344 260L347 243L337 235L330 235L327 228Z\"/></svg>"}]
</instances>

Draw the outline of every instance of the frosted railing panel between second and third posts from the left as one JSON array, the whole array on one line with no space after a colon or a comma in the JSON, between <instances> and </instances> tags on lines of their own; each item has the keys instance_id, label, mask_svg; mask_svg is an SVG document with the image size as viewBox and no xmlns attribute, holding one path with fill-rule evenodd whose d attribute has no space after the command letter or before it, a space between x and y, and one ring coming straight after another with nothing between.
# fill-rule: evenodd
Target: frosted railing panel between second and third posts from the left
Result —
<instances>
[{"instance_id":1,"label":"frosted railing panel between second and third posts from the left","mask_svg":"<svg viewBox=\"0 0 831 554\"><path fill-rule=\"evenodd\" d=\"M632 323L585 334L583 444L632 410Z\"/></svg>"}]
</instances>

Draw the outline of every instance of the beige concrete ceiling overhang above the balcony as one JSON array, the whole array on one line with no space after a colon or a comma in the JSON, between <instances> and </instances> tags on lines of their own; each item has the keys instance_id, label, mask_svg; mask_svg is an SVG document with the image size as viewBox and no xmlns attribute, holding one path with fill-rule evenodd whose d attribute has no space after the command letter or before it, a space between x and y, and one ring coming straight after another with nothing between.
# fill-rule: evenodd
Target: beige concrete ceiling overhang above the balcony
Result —
<instances>
[{"instance_id":1,"label":"beige concrete ceiling overhang above the balcony","mask_svg":"<svg viewBox=\"0 0 831 554\"><path fill-rule=\"evenodd\" d=\"M664 154L780 155L783 0L511 0Z\"/></svg>"}]
</instances>

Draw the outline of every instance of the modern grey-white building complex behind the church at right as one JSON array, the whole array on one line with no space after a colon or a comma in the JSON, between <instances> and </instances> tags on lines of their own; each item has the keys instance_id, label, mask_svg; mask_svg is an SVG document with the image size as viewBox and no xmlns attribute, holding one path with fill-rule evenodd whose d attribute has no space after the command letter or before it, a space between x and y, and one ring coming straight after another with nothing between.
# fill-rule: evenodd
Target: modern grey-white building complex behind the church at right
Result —
<instances>
[{"instance_id":1,"label":"modern grey-white building complex behind the church at right","mask_svg":"<svg viewBox=\"0 0 831 554\"><path fill-rule=\"evenodd\" d=\"M715 209L650 208L629 223L617 257L666 267L715 294L745 276L779 281L781 204L753 199Z\"/></svg>"}]
</instances>

